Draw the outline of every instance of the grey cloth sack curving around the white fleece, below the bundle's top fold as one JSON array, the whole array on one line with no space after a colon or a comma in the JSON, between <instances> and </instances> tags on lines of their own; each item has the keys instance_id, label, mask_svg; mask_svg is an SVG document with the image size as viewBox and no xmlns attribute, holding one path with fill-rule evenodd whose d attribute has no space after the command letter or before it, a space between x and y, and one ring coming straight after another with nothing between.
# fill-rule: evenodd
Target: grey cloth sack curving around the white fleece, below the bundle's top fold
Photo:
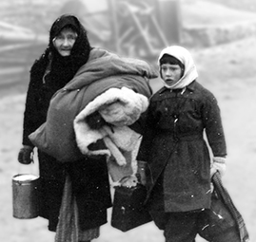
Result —
<instances>
[{"instance_id":1,"label":"grey cloth sack curving around the white fleece, below the bundle's top fold","mask_svg":"<svg viewBox=\"0 0 256 242\"><path fill-rule=\"evenodd\" d=\"M30 134L31 142L60 162L83 158L76 143L73 121L96 97L111 88L124 86L147 98L150 96L145 78L133 75L104 78L77 90L59 90L50 101L47 121Z\"/></svg>"}]
</instances>

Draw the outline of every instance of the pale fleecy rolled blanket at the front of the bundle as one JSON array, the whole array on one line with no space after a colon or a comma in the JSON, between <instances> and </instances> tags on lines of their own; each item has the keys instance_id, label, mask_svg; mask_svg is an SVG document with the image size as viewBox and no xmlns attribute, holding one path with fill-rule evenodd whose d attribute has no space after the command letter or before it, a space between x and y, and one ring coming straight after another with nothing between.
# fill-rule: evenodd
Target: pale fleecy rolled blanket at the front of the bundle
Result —
<instances>
[{"instance_id":1,"label":"pale fleecy rolled blanket at the front of the bundle","mask_svg":"<svg viewBox=\"0 0 256 242\"><path fill-rule=\"evenodd\" d=\"M110 88L98 96L82 110L74 120L74 131L77 146L84 155L113 156L117 163L125 165L126 158L122 151L132 151L139 142L140 135L128 128L147 110L148 99L127 87ZM111 126L104 125L92 129L87 117L99 112ZM111 127L111 128L110 128ZM103 139L108 150L89 150L89 145Z\"/></svg>"}]
</instances>

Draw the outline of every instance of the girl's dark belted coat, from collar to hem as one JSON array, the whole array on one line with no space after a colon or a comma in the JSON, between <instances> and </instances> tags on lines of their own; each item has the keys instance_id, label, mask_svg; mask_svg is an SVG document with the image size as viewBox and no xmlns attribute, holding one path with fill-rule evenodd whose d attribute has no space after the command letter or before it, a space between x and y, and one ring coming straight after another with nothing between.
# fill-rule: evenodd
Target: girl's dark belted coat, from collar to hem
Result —
<instances>
[{"instance_id":1,"label":"girl's dark belted coat, from collar to hem","mask_svg":"<svg viewBox=\"0 0 256 242\"><path fill-rule=\"evenodd\" d=\"M210 156L226 156L220 110L196 81L181 89L163 87L150 100L138 160L148 161L148 205L186 212L210 206Z\"/></svg>"}]
</instances>

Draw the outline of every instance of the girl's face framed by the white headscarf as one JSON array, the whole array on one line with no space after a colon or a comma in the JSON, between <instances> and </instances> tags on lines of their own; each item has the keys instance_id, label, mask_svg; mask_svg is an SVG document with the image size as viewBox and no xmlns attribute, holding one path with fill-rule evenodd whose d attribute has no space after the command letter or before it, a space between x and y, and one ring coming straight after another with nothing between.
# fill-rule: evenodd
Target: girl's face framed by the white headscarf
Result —
<instances>
[{"instance_id":1,"label":"girl's face framed by the white headscarf","mask_svg":"<svg viewBox=\"0 0 256 242\"><path fill-rule=\"evenodd\" d=\"M168 85L176 84L182 77L182 68L180 65L161 65L161 76L162 79Z\"/></svg>"}]
</instances>

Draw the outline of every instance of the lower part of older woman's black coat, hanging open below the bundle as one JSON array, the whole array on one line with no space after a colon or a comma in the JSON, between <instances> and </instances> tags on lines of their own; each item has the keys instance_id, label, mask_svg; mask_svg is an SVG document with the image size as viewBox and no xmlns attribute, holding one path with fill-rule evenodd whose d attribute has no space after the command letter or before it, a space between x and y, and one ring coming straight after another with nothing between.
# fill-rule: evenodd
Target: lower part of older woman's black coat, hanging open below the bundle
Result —
<instances>
[{"instance_id":1,"label":"lower part of older woman's black coat, hanging open below the bundle","mask_svg":"<svg viewBox=\"0 0 256 242\"><path fill-rule=\"evenodd\" d=\"M40 152L39 159L40 216L49 219L49 231L56 231L67 175L77 202L80 229L96 228L108 222L107 209L111 207L111 197L104 156L60 163Z\"/></svg>"}]
</instances>

